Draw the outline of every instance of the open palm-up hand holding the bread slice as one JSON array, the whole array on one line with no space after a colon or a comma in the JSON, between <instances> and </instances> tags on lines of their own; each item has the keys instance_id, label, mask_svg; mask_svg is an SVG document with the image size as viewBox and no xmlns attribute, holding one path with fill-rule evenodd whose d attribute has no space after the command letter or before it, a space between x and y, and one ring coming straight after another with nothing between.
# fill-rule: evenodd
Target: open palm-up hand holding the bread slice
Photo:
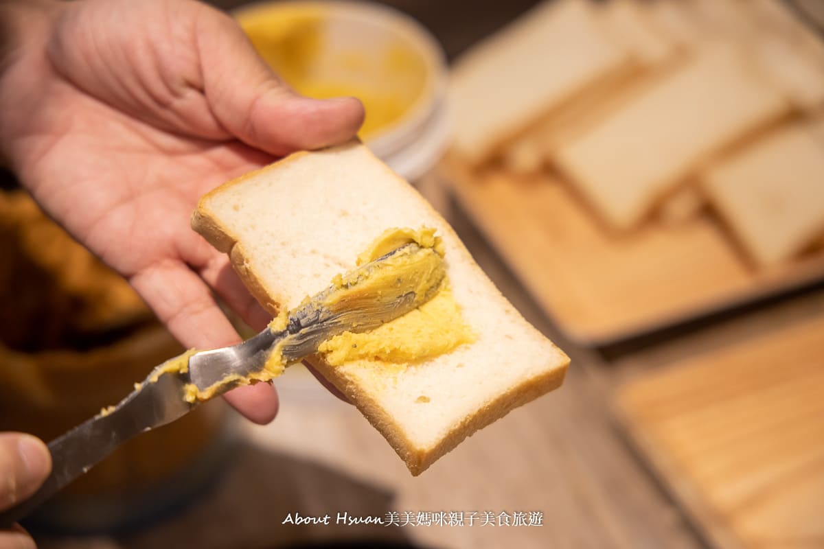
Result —
<instances>
[{"instance_id":1,"label":"open palm-up hand holding the bread slice","mask_svg":"<svg viewBox=\"0 0 824 549\"><path fill-rule=\"evenodd\" d=\"M19 32L0 59L0 145L22 184L186 347L240 341L212 290L263 328L226 256L190 229L194 205L278 156L353 137L360 102L295 95L232 19L192 0L4 7ZM269 384L227 400L261 423L277 412Z\"/></svg>"}]
</instances>

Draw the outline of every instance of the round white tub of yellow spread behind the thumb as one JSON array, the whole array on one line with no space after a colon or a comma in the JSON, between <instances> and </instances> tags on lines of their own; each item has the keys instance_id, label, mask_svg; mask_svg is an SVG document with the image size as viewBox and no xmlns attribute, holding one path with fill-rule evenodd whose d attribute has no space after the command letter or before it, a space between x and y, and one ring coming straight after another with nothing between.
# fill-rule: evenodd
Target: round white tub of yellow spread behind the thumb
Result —
<instances>
[{"instance_id":1,"label":"round white tub of yellow spread behind the thumb","mask_svg":"<svg viewBox=\"0 0 824 549\"><path fill-rule=\"evenodd\" d=\"M299 73L307 81L333 82L328 90L363 90L371 126L364 141L401 176L414 181L438 161L450 134L447 67L437 40L410 16L368 2L324 1L259 2L234 16L265 58L266 41L274 40L271 47L281 51L268 59L276 70L278 59L302 63L281 71L287 81ZM276 41L290 21L296 38ZM370 106L386 105L382 93L401 106L376 126Z\"/></svg>"}]
</instances>

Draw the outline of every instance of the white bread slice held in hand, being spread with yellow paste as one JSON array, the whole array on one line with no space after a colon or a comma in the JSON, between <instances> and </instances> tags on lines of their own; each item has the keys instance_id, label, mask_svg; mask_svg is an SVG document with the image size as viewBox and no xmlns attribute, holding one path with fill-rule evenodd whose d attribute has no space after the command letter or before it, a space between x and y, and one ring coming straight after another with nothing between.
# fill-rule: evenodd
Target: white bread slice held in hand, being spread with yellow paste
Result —
<instances>
[{"instance_id":1,"label":"white bread slice held in hand, being spread with yellow paste","mask_svg":"<svg viewBox=\"0 0 824 549\"><path fill-rule=\"evenodd\" d=\"M564 352L508 303L447 221L359 142L299 152L223 184L200 200L192 226L229 254L272 314L352 269L384 230L437 230L475 342L401 370L310 359L414 475L475 430L563 382Z\"/></svg>"}]
</instances>

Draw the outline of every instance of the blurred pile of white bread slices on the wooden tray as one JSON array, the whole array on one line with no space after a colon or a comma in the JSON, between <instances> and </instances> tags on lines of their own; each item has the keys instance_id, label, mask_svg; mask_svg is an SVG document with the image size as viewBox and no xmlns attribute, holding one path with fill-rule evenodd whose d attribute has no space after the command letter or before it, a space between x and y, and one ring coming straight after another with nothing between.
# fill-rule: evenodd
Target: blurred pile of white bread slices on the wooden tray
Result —
<instances>
[{"instance_id":1,"label":"blurred pile of white bread slices on the wooden tray","mask_svg":"<svg viewBox=\"0 0 824 549\"><path fill-rule=\"evenodd\" d=\"M780 0L557 0L456 62L453 157L616 235L708 213L753 269L824 242L824 41Z\"/></svg>"}]
</instances>

